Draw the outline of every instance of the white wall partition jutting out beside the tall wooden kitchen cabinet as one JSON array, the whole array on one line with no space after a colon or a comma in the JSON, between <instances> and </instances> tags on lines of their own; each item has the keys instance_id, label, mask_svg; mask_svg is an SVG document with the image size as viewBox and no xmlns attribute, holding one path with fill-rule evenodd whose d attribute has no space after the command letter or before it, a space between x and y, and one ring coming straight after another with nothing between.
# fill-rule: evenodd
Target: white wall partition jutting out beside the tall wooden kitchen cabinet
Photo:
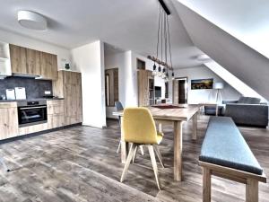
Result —
<instances>
[{"instance_id":1,"label":"white wall partition jutting out beside the tall wooden kitchen cabinet","mask_svg":"<svg viewBox=\"0 0 269 202\"><path fill-rule=\"evenodd\" d=\"M104 45L99 40L72 49L74 67L82 73L83 125L106 126Z\"/></svg>"}]
</instances>

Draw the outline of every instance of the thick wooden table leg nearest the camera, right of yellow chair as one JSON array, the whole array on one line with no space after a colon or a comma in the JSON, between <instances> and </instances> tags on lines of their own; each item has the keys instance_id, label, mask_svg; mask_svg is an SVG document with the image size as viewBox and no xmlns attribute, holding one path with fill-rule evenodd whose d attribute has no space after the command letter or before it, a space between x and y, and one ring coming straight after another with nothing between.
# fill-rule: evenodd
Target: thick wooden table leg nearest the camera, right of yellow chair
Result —
<instances>
[{"instance_id":1,"label":"thick wooden table leg nearest the camera, right of yellow chair","mask_svg":"<svg viewBox=\"0 0 269 202\"><path fill-rule=\"evenodd\" d=\"M183 121L174 122L174 180L182 180L182 124Z\"/></svg>"}]
</instances>

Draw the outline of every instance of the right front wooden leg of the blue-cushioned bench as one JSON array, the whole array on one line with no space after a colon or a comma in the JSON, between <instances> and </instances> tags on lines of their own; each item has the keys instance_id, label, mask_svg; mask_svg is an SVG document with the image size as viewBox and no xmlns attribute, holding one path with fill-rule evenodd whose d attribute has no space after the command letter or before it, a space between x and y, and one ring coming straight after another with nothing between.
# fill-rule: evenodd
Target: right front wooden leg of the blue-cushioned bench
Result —
<instances>
[{"instance_id":1,"label":"right front wooden leg of the blue-cushioned bench","mask_svg":"<svg viewBox=\"0 0 269 202\"><path fill-rule=\"evenodd\" d=\"M258 181L247 179L246 184L246 202L258 202Z\"/></svg>"}]
</instances>

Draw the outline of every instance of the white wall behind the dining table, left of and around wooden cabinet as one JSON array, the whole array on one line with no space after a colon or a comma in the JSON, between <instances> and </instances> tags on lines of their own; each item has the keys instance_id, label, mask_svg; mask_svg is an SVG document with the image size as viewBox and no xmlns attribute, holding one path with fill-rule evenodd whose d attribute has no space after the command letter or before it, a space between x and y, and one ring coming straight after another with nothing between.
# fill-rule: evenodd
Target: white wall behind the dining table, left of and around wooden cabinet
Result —
<instances>
[{"instance_id":1,"label":"white wall behind the dining table, left of and around wooden cabinet","mask_svg":"<svg viewBox=\"0 0 269 202\"><path fill-rule=\"evenodd\" d=\"M118 98L124 107L138 105L136 58L145 61L146 69L152 70L153 62L133 51L105 54L105 68L118 68ZM161 98L164 98L164 80L155 76L155 85L161 86ZM107 107L106 110L108 118L116 118L112 115L114 107Z\"/></svg>"}]
</instances>

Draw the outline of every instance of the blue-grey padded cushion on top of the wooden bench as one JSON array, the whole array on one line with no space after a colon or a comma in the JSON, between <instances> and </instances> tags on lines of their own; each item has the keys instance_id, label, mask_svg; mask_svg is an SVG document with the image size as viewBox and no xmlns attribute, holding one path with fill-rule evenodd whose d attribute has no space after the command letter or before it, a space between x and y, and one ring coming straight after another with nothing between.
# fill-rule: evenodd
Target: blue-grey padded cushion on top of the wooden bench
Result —
<instances>
[{"instance_id":1,"label":"blue-grey padded cushion on top of the wooden bench","mask_svg":"<svg viewBox=\"0 0 269 202\"><path fill-rule=\"evenodd\" d=\"M199 160L240 171L263 174L256 157L229 117L211 117Z\"/></svg>"}]
</instances>

